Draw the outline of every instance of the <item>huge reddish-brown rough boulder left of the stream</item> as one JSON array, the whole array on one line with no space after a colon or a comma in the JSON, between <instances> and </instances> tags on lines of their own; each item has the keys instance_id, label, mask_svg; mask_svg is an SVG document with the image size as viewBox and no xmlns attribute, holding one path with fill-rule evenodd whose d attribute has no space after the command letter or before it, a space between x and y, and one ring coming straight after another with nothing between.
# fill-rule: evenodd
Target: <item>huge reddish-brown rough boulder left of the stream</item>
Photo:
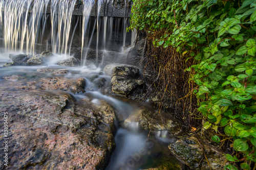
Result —
<instances>
[{"instance_id":1,"label":"huge reddish-brown rough boulder left of the stream","mask_svg":"<svg viewBox=\"0 0 256 170\"><path fill-rule=\"evenodd\" d=\"M8 169L106 166L115 147L115 114L109 105L76 102L65 92L0 91L0 98L0 112L8 112Z\"/></svg>"}]
</instances>

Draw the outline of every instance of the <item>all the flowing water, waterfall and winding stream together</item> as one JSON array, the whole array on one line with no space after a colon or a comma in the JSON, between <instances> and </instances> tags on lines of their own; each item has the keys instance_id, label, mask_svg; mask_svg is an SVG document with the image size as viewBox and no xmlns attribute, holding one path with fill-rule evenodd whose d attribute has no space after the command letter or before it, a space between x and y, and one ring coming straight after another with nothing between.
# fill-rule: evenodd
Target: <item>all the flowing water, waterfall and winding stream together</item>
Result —
<instances>
[{"instance_id":1,"label":"all the flowing water, waterfall and winding stream together","mask_svg":"<svg viewBox=\"0 0 256 170\"><path fill-rule=\"evenodd\" d=\"M115 109L116 148L105 169L148 169L166 163L172 165L168 166L169 169L180 169L183 165L167 150L168 143L175 141L175 138L166 131L148 135L148 131L140 129L136 117L141 114L142 108L154 110L154 107L147 102L138 107L140 102L108 93L111 78L102 74L102 69L109 63L128 63L129 55L123 47L134 47L137 31L126 33L130 20L125 15L123 18L108 16L110 1L97 2L83 0L83 16L75 17L76 0L1 0L0 83L10 81L12 86L51 76L39 73L36 71L38 68L67 69L69 74L65 77L82 77L87 81L86 92L76 94L74 98L87 98L96 105L103 100ZM93 6L96 16L92 17ZM50 8L50 13L47 13L47 8ZM100 15L101 8L104 9L103 16ZM52 50L54 56L44 66L2 67L11 62L9 54L33 56L47 49ZM61 59L74 57L74 51L79 53L77 56L81 66L71 68L56 65ZM132 63L138 64L134 60ZM25 75L26 78L3 80L13 75ZM92 77L106 80L105 86L99 87Z\"/></svg>"}]
</instances>

